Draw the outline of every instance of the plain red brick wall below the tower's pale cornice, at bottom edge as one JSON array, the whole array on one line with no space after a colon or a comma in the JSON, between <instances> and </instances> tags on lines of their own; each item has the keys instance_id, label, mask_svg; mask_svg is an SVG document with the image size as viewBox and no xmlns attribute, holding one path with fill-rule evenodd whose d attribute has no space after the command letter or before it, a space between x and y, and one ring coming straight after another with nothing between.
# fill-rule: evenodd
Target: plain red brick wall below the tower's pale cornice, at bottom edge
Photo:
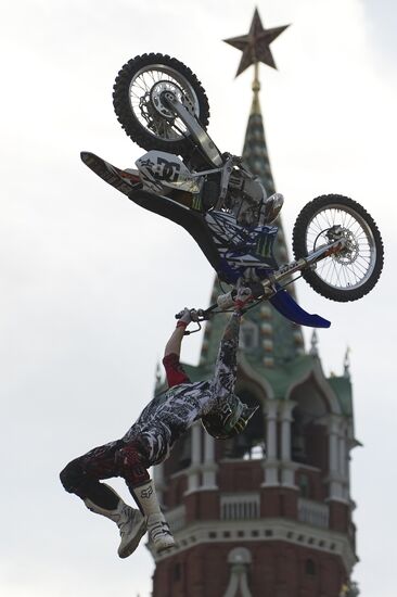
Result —
<instances>
[{"instance_id":1,"label":"plain red brick wall below the tower's pale cornice, at bottom edge","mask_svg":"<svg viewBox=\"0 0 397 597\"><path fill-rule=\"evenodd\" d=\"M282 542L205 544L163 560L153 597L222 597L234 547L249 549L253 597L338 597L345 570L337 556ZM310 562L310 563L308 563Z\"/></svg>"}]
</instances>

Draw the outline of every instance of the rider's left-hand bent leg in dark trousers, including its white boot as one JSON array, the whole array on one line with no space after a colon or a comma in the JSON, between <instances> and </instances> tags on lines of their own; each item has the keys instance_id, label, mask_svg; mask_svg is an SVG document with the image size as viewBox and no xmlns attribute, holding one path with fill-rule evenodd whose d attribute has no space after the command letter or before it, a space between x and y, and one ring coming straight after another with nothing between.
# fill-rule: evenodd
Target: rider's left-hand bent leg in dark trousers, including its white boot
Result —
<instances>
[{"instance_id":1,"label":"rider's left-hand bent leg in dark trousers, including its white boot","mask_svg":"<svg viewBox=\"0 0 397 597\"><path fill-rule=\"evenodd\" d=\"M61 482L68 493L80 497L87 508L113 520L120 533L118 547L120 558L126 558L138 547L145 533L145 518L139 510L131 508L108 485L100 479L118 477L116 454L119 442L112 442L90 450L72 460L61 472Z\"/></svg>"}]
</instances>

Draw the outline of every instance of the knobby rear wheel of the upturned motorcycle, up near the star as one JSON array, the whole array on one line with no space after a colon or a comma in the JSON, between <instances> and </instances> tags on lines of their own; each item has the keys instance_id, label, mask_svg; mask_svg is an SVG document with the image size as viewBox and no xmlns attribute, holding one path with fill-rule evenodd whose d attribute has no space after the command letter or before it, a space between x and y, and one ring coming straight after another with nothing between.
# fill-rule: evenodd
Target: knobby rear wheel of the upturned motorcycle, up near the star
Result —
<instances>
[{"instance_id":1,"label":"knobby rear wheel of the upturned motorcycle, up near the star","mask_svg":"<svg viewBox=\"0 0 397 597\"><path fill-rule=\"evenodd\" d=\"M113 87L117 119L141 148L189 156L190 132L162 103L164 91L174 93L206 128L209 105L197 77L179 60L155 53L138 55L119 71Z\"/></svg>"}]
</instances>

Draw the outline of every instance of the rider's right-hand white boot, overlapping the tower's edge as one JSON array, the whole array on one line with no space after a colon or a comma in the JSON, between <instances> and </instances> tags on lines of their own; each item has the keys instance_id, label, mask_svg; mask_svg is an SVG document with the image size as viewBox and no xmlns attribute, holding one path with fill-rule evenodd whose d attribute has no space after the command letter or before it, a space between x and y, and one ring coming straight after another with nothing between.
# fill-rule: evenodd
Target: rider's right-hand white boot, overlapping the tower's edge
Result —
<instances>
[{"instance_id":1,"label":"rider's right-hand white boot, overlapping the tower's edge","mask_svg":"<svg viewBox=\"0 0 397 597\"><path fill-rule=\"evenodd\" d=\"M148 519L148 533L155 550L158 552L172 547L175 539L159 508L152 479L142 485L135 486L132 494Z\"/></svg>"}]
</instances>

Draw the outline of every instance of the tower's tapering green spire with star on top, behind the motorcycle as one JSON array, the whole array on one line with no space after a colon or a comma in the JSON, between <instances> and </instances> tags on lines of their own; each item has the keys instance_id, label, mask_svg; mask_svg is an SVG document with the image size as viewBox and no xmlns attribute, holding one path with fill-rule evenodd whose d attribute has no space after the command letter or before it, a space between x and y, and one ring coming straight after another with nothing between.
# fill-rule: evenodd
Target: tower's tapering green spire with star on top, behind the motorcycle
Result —
<instances>
[{"instance_id":1,"label":"tower's tapering green spire with star on top, behind the motorcycle","mask_svg":"<svg viewBox=\"0 0 397 597\"><path fill-rule=\"evenodd\" d=\"M259 103L259 63L276 68L269 46L286 27L287 25L266 29L256 9L249 33L225 40L243 52L236 76L248 66L254 65L253 103L242 156L249 170L258 177L265 187L268 196L276 192L276 188ZM274 243L274 255L278 263L283 264L289 261L289 255L280 218L277 224L279 231ZM289 291L294 294L293 284L289 285ZM215 287L213 294L213 297L219 294L219 289ZM220 318L207 323L201 354L203 366L213 363L216 358L222 327L223 322ZM283 367L305 352L300 327L285 319L268 302L264 302L259 308L246 314L243 328L242 338L249 338L249 348L245 342L242 342L242 345L244 344L245 353L249 354L251 363L257 371L264 370L264 368L268 370Z\"/></svg>"}]
</instances>

